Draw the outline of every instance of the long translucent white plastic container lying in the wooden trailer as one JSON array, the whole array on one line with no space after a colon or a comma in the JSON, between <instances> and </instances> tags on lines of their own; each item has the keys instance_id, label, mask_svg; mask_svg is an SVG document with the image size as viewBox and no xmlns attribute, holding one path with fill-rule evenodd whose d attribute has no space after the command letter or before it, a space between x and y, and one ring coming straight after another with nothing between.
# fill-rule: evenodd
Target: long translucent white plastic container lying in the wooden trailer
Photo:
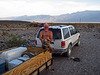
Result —
<instances>
[{"instance_id":1,"label":"long translucent white plastic container lying in the wooden trailer","mask_svg":"<svg viewBox=\"0 0 100 75\"><path fill-rule=\"evenodd\" d=\"M7 62L17 59L18 57L21 56L21 54L26 51L26 47L18 47L15 49L11 49L9 51L5 51L1 54L1 58L6 60Z\"/></svg>"}]
</instances>

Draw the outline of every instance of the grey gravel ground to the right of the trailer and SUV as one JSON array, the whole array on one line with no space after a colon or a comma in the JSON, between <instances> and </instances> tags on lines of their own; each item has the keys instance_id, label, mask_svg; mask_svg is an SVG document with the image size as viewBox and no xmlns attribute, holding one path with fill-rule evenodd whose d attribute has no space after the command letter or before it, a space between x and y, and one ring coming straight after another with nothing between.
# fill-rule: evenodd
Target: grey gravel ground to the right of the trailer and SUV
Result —
<instances>
[{"instance_id":1,"label":"grey gravel ground to the right of the trailer and SUV","mask_svg":"<svg viewBox=\"0 0 100 75\"><path fill-rule=\"evenodd\" d=\"M52 69L41 75L100 75L100 33L80 32L81 45L72 50L72 57L80 58L80 62L69 60L67 57L53 55Z\"/></svg>"}]
</instances>

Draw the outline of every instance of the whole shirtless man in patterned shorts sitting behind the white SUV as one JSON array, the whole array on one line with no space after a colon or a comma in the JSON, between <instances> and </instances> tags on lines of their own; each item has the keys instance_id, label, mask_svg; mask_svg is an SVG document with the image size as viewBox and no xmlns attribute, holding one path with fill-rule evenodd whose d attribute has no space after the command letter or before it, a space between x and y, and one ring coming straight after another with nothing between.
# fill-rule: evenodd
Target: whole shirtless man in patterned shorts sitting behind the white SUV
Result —
<instances>
[{"instance_id":1,"label":"whole shirtless man in patterned shorts sitting behind the white SUV","mask_svg":"<svg viewBox=\"0 0 100 75\"><path fill-rule=\"evenodd\" d=\"M40 32L40 40L42 42L42 48L49 50L50 53L53 52L53 48L51 48L50 42L53 39L53 33L49 30L49 25L44 25L44 30Z\"/></svg>"}]
</instances>

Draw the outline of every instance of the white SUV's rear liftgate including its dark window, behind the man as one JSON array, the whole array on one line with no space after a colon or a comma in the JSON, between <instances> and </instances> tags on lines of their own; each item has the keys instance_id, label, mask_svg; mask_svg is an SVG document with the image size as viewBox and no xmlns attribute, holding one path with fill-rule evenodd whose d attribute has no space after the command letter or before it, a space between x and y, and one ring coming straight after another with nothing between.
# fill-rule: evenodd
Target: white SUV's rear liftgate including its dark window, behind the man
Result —
<instances>
[{"instance_id":1,"label":"white SUV's rear liftgate including its dark window, behind the man","mask_svg":"<svg viewBox=\"0 0 100 75\"><path fill-rule=\"evenodd\" d=\"M40 32L42 30L44 30L44 29L41 29L38 32L38 35L37 35L37 38L36 38L38 47L41 47L41 41L39 39L39 35L40 35ZM50 28L49 30L52 31L52 33L53 33L53 40L52 40L53 43L51 43L52 47L55 48L55 49L61 48L61 39L62 39L61 29Z\"/></svg>"}]
</instances>

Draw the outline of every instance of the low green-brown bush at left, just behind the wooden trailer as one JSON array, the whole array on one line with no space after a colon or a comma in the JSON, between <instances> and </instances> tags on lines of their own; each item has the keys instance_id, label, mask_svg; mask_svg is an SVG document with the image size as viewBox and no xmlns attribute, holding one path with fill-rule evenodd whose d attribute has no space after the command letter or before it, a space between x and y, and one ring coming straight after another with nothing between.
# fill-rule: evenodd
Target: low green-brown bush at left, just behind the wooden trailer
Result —
<instances>
[{"instance_id":1,"label":"low green-brown bush at left, just behind the wooden trailer","mask_svg":"<svg viewBox=\"0 0 100 75\"><path fill-rule=\"evenodd\" d=\"M1 40L3 40L5 46L1 46L0 48L19 47L22 44L27 45L27 40L22 39L20 35L14 35L14 34L9 34L9 36L3 35Z\"/></svg>"}]
</instances>

